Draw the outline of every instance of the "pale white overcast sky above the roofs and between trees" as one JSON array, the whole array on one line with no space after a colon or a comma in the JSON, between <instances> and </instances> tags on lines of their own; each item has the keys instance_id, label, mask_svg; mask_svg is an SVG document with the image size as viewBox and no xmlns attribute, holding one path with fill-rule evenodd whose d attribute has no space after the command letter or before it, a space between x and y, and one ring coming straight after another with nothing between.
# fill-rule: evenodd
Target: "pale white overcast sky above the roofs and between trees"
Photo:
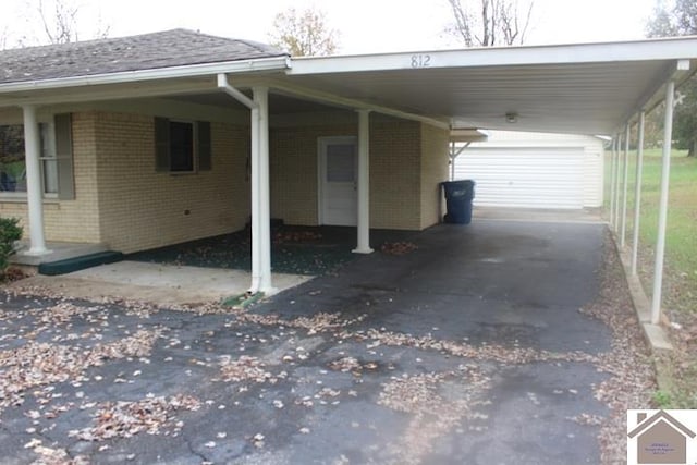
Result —
<instances>
[{"instance_id":1,"label":"pale white overcast sky above the roofs and between trees","mask_svg":"<svg viewBox=\"0 0 697 465\"><path fill-rule=\"evenodd\" d=\"M53 0L44 0L50 5ZM326 12L337 29L339 53L457 48L444 33L452 21L447 0L62 0L80 5L80 38L109 27L110 37L185 27L201 33L269 41L273 17L291 7ZM467 0L463 0L467 1ZM640 39L656 0L535 0L526 45ZM2 0L0 38L35 45L44 33L38 0Z\"/></svg>"}]
</instances>

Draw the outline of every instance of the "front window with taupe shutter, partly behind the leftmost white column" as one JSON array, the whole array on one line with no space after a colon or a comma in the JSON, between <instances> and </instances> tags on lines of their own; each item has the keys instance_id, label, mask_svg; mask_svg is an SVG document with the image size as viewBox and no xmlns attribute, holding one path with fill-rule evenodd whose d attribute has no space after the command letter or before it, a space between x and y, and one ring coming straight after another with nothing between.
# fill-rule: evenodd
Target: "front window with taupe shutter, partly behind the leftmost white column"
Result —
<instances>
[{"instance_id":1,"label":"front window with taupe shutter, partly behind the leftmost white column","mask_svg":"<svg viewBox=\"0 0 697 465\"><path fill-rule=\"evenodd\" d=\"M39 123L41 183L47 197L74 198L71 115ZM0 125L0 195L26 196L26 151L22 124Z\"/></svg>"}]
</instances>

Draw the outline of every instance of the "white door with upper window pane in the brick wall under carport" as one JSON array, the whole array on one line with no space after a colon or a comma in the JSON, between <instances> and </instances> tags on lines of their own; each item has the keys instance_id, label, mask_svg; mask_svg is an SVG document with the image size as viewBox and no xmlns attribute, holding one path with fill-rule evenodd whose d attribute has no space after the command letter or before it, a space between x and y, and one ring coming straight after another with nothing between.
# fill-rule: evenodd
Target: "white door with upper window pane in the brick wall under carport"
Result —
<instances>
[{"instance_id":1,"label":"white door with upper window pane in the brick wall under carport","mask_svg":"<svg viewBox=\"0 0 697 465\"><path fill-rule=\"evenodd\" d=\"M357 218L356 137L319 139L320 224L355 227Z\"/></svg>"}]
</instances>

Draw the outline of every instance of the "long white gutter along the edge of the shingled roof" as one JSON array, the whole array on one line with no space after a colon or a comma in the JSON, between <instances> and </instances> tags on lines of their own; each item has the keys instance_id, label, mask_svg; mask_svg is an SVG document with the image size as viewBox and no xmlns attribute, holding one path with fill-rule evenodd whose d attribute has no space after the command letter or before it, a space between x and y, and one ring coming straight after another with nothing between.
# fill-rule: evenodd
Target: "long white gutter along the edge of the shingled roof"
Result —
<instances>
[{"instance_id":1,"label":"long white gutter along the edge of the shingled roof","mask_svg":"<svg viewBox=\"0 0 697 465\"><path fill-rule=\"evenodd\" d=\"M83 76L60 77L41 81L23 81L0 84L1 94L22 93L27 90L50 90L70 87L97 86L110 84L127 84L145 81L199 77L218 74L249 74L283 71L291 66L288 56L249 60L235 60L219 63L191 64L183 66L135 70L118 73L103 73Z\"/></svg>"}]
</instances>

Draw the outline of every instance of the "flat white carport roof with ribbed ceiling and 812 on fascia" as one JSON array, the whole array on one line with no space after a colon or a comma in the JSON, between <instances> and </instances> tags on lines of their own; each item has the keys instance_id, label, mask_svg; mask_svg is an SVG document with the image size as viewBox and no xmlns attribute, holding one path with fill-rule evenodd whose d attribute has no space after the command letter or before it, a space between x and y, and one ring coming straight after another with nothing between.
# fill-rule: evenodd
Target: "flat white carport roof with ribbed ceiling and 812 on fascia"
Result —
<instances>
[{"instance_id":1,"label":"flat white carport roof with ribbed ceiling and 812 on fascia","mask_svg":"<svg viewBox=\"0 0 697 465\"><path fill-rule=\"evenodd\" d=\"M612 134L655 106L695 57L693 37L309 58L294 59L286 79L309 97L337 95L452 127Z\"/></svg>"}]
</instances>

